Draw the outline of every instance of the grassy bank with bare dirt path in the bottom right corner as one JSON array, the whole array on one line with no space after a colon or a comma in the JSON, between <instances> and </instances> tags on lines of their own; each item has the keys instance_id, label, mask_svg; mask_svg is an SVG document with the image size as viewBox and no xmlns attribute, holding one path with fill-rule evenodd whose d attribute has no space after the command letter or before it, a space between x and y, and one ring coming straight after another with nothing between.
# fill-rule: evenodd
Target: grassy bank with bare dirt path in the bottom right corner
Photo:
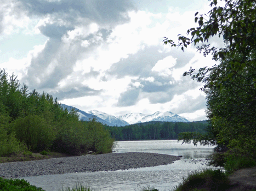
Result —
<instances>
[{"instance_id":1,"label":"grassy bank with bare dirt path in the bottom right corner","mask_svg":"<svg viewBox=\"0 0 256 191\"><path fill-rule=\"evenodd\" d=\"M256 191L256 166L227 175L220 170L194 171L174 191Z\"/></svg>"}]
</instances>

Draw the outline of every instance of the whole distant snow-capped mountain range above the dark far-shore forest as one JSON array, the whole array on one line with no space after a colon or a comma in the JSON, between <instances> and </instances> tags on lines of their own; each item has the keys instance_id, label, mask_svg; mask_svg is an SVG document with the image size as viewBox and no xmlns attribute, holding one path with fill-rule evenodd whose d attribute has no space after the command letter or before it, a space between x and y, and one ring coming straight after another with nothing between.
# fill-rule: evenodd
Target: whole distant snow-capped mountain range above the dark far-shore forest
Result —
<instances>
[{"instance_id":1,"label":"whole distant snow-capped mountain range above the dark far-shore forest","mask_svg":"<svg viewBox=\"0 0 256 191\"><path fill-rule=\"evenodd\" d=\"M71 110L73 107L65 104L61 104L62 108ZM150 121L162 121L162 122L189 122L184 117L180 117L177 114L173 114L170 111L160 112L157 111L152 115L145 114L125 114L121 116L113 116L106 114L98 110L82 111L77 109L79 120L89 121L92 118L96 118L96 121L106 124L107 126L128 126L129 124L144 123Z\"/></svg>"}]
</instances>

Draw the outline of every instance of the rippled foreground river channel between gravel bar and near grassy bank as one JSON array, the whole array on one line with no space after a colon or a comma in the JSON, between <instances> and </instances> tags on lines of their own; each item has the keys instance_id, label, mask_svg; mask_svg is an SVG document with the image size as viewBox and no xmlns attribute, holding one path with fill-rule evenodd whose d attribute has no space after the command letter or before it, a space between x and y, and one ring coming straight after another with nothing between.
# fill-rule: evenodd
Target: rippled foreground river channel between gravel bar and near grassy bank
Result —
<instances>
[{"instance_id":1,"label":"rippled foreground river channel between gravel bar and near grassy bank","mask_svg":"<svg viewBox=\"0 0 256 191\"><path fill-rule=\"evenodd\" d=\"M183 176L194 170L207 168L201 163L192 163L191 160L178 160L173 164L147 167L141 169L82 172L62 175L43 175L23 177L46 191L74 187L77 183L89 186L95 190L141 190L152 186L159 190L169 190L182 181Z\"/></svg>"}]
</instances>

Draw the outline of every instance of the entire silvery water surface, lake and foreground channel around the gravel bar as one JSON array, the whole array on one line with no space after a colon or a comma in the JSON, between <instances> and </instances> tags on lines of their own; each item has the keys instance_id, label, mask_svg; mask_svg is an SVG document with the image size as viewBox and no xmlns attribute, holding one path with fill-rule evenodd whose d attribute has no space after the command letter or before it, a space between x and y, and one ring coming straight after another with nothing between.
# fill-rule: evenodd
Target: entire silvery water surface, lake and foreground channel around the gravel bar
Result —
<instances>
[{"instance_id":1,"label":"entire silvery water surface, lake and foreground channel around the gravel bar","mask_svg":"<svg viewBox=\"0 0 256 191\"><path fill-rule=\"evenodd\" d=\"M183 144L177 140L160 141L117 141L113 152L149 152L183 156L173 164L140 169L117 170L107 172L83 172L62 175L43 175L22 177L30 184L45 191L58 191L62 188L75 187L76 184L89 186L93 190L139 190L154 187L158 190L172 190L189 172L211 168L205 161L213 153L214 147Z\"/></svg>"}]
</instances>

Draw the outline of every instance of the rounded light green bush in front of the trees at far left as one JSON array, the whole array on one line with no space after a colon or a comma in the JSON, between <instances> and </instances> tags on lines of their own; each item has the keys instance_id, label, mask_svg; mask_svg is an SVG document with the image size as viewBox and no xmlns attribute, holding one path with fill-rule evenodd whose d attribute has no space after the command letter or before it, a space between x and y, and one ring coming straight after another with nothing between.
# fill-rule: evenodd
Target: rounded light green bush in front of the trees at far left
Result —
<instances>
[{"instance_id":1,"label":"rounded light green bush in front of the trees at far left","mask_svg":"<svg viewBox=\"0 0 256 191\"><path fill-rule=\"evenodd\" d=\"M48 150L55 139L55 130L44 118L29 115L14 121L13 129L16 137L24 141L32 151Z\"/></svg>"}]
</instances>

